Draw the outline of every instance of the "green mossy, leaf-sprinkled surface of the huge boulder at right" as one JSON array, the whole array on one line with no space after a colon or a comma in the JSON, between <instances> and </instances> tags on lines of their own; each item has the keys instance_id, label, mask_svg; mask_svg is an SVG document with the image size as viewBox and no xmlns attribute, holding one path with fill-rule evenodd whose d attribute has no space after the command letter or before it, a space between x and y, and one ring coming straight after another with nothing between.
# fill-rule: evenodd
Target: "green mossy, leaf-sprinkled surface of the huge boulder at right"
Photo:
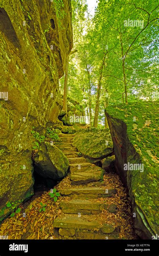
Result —
<instances>
[{"instance_id":1,"label":"green mossy, leaf-sprinkled surface of the huge boulder at right","mask_svg":"<svg viewBox=\"0 0 159 256\"><path fill-rule=\"evenodd\" d=\"M153 230L159 224L158 213L158 120L159 102L135 102L105 109L114 127L124 127L127 148L127 162L144 164L144 171L129 171L127 181L131 199L135 200L143 216ZM116 133L118 133L117 128ZM124 133L124 131L123 131ZM116 136L116 134L114 135ZM122 136L123 134L118 134ZM135 153L136 152L136 153ZM122 168L122 167L121 167ZM133 196L134 194L134 196Z\"/></svg>"}]
</instances>

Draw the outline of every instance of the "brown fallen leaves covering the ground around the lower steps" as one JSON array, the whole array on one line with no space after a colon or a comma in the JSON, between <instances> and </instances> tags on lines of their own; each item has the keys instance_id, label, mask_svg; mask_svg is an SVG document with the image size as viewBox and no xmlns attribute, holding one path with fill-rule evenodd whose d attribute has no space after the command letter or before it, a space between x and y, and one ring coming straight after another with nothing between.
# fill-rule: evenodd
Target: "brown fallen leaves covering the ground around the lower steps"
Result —
<instances>
[{"instance_id":1,"label":"brown fallen leaves covering the ground around the lower steps","mask_svg":"<svg viewBox=\"0 0 159 256\"><path fill-rule=\"evenodd\" d=\"M66 150L64 150L66 152ZM71 152L72 154L73 152ZM73 153L74 154L74 153ZM78 159L79 161L79 159ZM96 185L97 184L97 185ZM58 201L54 202L53 198L50 197L50 191L44 191L42 195L35 198L32 197L27 203L21 204L21 212L16 214L14 217L8 217L3 221L0 226L0 235L8 235L8 239L76 239L75 236L67 237L61 236L57 232L57 228L54 228L54 220L57 218L62 219L63 216L68 215L69 217L76 216L77 220L80 219L84 222L97 221L101 225L103 223L110 224L115 228L118 233L117 239L138 239L134 231L134 222L131 211L131 204L126 188L123 186L119 176L114 173L104 173L103 182L90 182L87 184L72 185L70 180L70 173L55 188L58 192L67 191L73 188L92 188L107 187L108 189L116 189L116 193L111 197L97 197L97 198L85 198L90 203L99 203L110 205L116 205L117 212L110 213L108 210L103 209L98 214L81 215L78 218L77 214L65 214L61 210L61 203L69 203L72 200L69 195L58 197ZM82 195L78 195L77 201ZM75 199L76 200L76 199ZM39 211L41 204L46 204L46 211ZM63 228L64 229L64 228ZM98 239L98 238L97 238Z\"/></svg>"}]
</instances>

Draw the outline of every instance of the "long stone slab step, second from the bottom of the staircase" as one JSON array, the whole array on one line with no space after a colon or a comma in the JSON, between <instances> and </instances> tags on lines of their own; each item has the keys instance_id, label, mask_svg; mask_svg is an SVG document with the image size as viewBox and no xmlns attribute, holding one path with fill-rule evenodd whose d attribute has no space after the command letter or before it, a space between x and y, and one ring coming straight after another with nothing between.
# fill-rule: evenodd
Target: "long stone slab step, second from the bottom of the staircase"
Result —
<instances>
[{"instance_id":1,"label":"long stone slab step, second from the bottom of the staircase","mask_svg":"<svg viewBox=\"0 0 159 256\"><path fill-rule=\"evenodd\" d=\"M61 202L60 207L63 213L69 214L82 214L82 215L91 215L99 214L102 210L108 210L108 212L116 213L117 206L115 204L106 204L100 203L97 201L89 200L70 200L69 202ZM110 211L109 211L110 210Z\"/></svg>"}]
</instances>

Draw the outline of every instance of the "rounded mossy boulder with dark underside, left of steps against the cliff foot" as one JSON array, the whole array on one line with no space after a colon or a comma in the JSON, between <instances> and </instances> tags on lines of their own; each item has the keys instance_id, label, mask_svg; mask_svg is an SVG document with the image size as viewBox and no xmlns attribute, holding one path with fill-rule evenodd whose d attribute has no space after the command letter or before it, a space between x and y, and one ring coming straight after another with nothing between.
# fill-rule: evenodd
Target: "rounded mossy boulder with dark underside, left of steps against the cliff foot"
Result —
<instances>
[{"instance_id":1,"label":"rounded mossy boulder with dark underside, left of steps against the cliff foot","mask_svg":"<svg viewBox=\"0 0 159 256\"><path fill-rule=\"evenodd\" d=\"M48 142L42 142L34 162L35 171L44 178L61 181L67 175L68 159L61 150Z\"/></svg>"}]
</instances>

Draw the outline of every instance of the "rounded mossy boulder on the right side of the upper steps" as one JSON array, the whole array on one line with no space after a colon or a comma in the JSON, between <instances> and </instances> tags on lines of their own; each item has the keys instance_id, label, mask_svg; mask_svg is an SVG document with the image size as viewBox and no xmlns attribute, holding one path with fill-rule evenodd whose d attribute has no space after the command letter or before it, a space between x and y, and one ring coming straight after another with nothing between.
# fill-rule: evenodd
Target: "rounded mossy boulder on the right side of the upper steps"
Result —
<instances>
[{"instance_id":1,"label":"rounded mossy boulder on the right side of the upper steps","mask_svg":"<svg viewBox=\"0 0 159 256\"><path fill-rule=\"evenodd\" d=\"M73 138L73 146L92 163L113 154L109 129L80 129Z\"/></svg>"}]
</instances>

